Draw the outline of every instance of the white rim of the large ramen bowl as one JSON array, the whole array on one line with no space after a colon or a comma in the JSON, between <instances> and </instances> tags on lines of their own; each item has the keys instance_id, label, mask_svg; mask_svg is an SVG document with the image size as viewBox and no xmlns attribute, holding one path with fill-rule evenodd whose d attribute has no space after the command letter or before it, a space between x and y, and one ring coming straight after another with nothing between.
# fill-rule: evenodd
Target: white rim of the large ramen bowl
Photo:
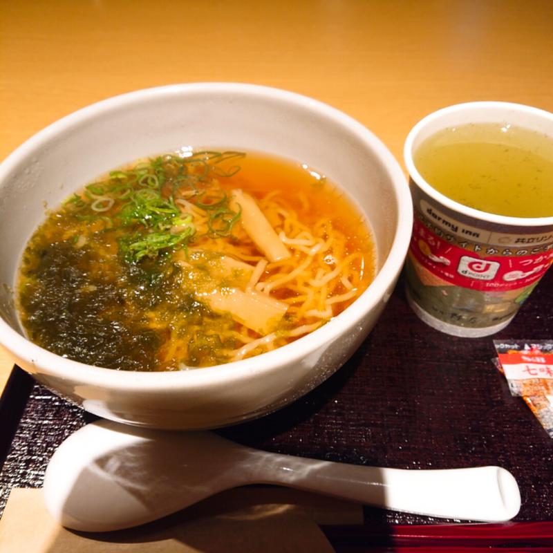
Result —
<instances>
[{"instance_id":1,"label":"white rim of the large ramen bowl","mask_svg":"<svg viewBox=\"0 0 553 553\"><path fill-rule=\"evenodd\" d=\"M375 308L377 303L383 300L384 302L388 301L391 295L391 287L395 283L404 263L411 238L413 204L406 176L391 151L366 126L350 117L350 115L324 102L299 93L259 84L196 82L143 88L138 91L109 97L85 106L49 124L28 138L15 151L12 151L0 164L0 186L13 167L17 166L25 158L28 158L28 156L31 156L33 151L44 146L48 140L70 131L73 126L85 124L87 120L97 115L105 114L112 110L124 109L124 106L129 103L133 104L142 100L156 99L159 96L186 95L187 93L239 93L241 95L261 96L265 97L265 99L283 103L292 103L314 111L317 115L330 118L333 122L345 127L358 140L361 140L369 149L373 150L382 163L383 169L388 174L393 187L397 209L397 223L395 225L391 249L382 267L363 294L348 306L346 310L328 321L321 328L270 352L236 362L203 367L200 370L135 372L91 366L74 361L73 359L61 357L41 348L41 346L33 344L13 329L3 317L0 317L0 342L15 354L16 357L24 359L28 366L40 367L41 371L38 372L47 373L50 377L71 378L84 385L107 386L114 390L144 391L148 393L164 391L169 386L184 390L205 388L209 385L216 385L221 381L240 382L242 379L248 379L254 373L268 374L272 371L278 371L283 365L301 362L303 357L321 348L321 346L329 343L337 336L344 335L348 328L362 324L364 316ZM34 372L30 371L30 369L27 370L30 373Z\"/></svg>"}]
</instances>

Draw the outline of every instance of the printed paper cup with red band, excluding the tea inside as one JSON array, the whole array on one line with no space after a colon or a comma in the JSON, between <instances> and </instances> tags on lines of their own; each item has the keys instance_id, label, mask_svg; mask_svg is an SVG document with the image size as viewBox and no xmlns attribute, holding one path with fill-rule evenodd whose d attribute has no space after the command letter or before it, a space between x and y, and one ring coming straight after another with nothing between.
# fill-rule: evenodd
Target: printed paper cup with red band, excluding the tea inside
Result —
<instances>
[{"instance_id":1,"label":"printed paper cup with red band, excluding the tea inside","mask_svg":"<svg viewBox=\"0 0 553 553\"><path fill-rule=\"evenodd\" d=\"M431 187L413 162L420 144L442 129L503 122L553 140L552 113L507 102L471 102L431 113L405 142L415 209L405 267L407 298L420 319L451 335L480 337L505 328L553 262L553 214L522 218L466 207Z\"/></svg>"}]
</instances>

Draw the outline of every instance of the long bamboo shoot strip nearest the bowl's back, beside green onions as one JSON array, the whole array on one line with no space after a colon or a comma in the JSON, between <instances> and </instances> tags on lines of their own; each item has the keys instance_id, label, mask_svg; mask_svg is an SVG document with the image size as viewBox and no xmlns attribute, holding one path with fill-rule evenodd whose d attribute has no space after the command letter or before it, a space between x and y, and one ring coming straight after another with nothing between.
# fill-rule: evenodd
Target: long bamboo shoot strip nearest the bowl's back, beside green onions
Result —
<instances>
[{"instance_id":1,"label":"long bamboo shoot strip nearest the bowl's back, beside green onions","mask_svg":"<svg viewBox=\"0 0 553 553\"><path fill-rule=\"evenodd\" d=\"M245 194L241 190L233 190L232 209L238 209L236 204L242 208L241 222L245 232L252 238L259 250L265 254L265 257L271 262L288 259L290 251L277 233L274 232L273 227L259 209L256 200L250 194Z\"/></svg>"}]
</instances>

